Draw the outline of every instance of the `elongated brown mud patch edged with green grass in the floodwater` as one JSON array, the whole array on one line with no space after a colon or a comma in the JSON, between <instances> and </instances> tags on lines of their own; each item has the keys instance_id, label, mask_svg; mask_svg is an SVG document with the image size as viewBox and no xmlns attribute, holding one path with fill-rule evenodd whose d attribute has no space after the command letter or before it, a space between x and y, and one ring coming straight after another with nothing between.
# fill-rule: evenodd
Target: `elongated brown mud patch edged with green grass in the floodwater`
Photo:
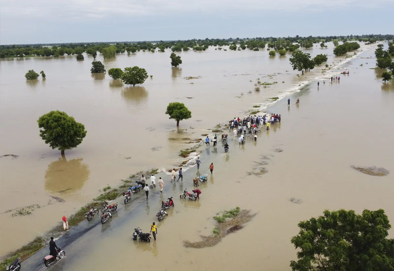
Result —
<instances>
[{"instance_id":1,"label":"elongated brown mud patch edged with green grass in the floodwater","mask_svg":"<svg viewBox=\"0 0 394 271\"><path fill-rule=\"evenodd\" d=\"M191 242L191 241L183 241L186 247L193 248L203 248L214 246L218 244L223 237L226 237L228 234L234 233L244 227L244 224L251 221L252 218L256 214L251 214L250 210L241 210L239 213L234 216L232 219L225 221L223 223L217 223L214 232L216 233L213 236L200 236L201 241Z\"/></svg>"}]
</instances>

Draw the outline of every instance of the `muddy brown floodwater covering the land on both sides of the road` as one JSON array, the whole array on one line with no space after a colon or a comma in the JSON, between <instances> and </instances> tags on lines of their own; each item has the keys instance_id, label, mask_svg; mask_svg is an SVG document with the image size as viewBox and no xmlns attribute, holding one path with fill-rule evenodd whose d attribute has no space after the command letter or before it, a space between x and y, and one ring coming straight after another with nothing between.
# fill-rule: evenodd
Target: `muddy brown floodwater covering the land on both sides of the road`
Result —
<instances>
[{"instance_id":1,"label":"muddy brown floodwater covering the land on both sides of the road","mask_svg":"<svg viewBox=\"0 0 394 271\"><path fill-rule=\"evenodd\" d=\"M269 107L268 111L282 115L283 122L263 133L256 144L239 148L230 142L229 155L224 155L221 147L215 150L202 146L201 174L208 171L208 163L214 162L214 175L207 187L200 188L201 201L175 202L173 213L159 226L160 242L130 244L133 227L147 231L160 207L159 201L150 202L145 212L133 217L138 221L136 225L124 223L116 231L110 226L104 228L107 230L100 238L89 239L89 248L88 240L84 240L88 237L82 237L74 246L75 251L84 251L84 259L76 257L72 263L67 262L67 270L80 270L88 263L97 270L113 267L114 263L120 268L130 255L155 259L133 261L136 268L180 269L187 265L192 270L235 270L258 265L263 270L286 270L289 261L296 259L290 238L296 235L299 220L320 215L324 209L360 212L363 208L384 208L393 221L392 173L373 177L350 168L378 166L393 172L390 141L394 128L388 122L393 115L390 104L394 102L394 87L376 79L378 70L369 69L375 65L375 59L369 59L373 50L346 63L343 68L351 74L341 76L340 83L323 84L320 80L317 89L313 82L291 97L290 107L284 100ZM308 51L312 56L327 53L328 64L343 61L332 56L332 48ZM268 98L283 97L311 78L324 77L318 70L297 77L289 56L272 59L266 51L210 48L206 52L182 52L181 56L181 68L169 66L169 52L140 52L104 61L106 69L134 65L146 68L153 79L135 88L122 86L107 75L92 76L88 57L83 62L76 62L74 57L0 62L0 155L19 155L16 159L0 159L2 255L49 230L107 184L116 186L121 178L139 170L178 165L181 160L177 153L189 141L182 138L199 138L218 123L242 117L254 104L264 107ZM23 75L30 68L43 69L47 79L27 83ZM273 75L272 79L268 74ZM187 76L201 78L184 79ZM257 78L278 83L255 92ZM294 104L297 98L299 106ZM192 111L192 119L181 122L182 130L177 130L175 121L164 114L168 102L173 101L184 102ZM83 143L67 151L65 159L45 145L38 134L36 120L50 110L66 111L88 131ZM283 152L276 152L278 148ZM260 177L247 173L262 167L268 173ZM186 172L190 181L195 168ZM180 191L182 187L177 184L168 196L177 198ZM292 203L291 198L302 203ZM32 204L42 207L30 216L4 213ZM209 218L217 211L235 206L251 209L257 215L215 247L183 248L183 240L196 241L199 234L212 231ZM24 227L26 223L29 228ZM21 238L11 238L10 229ZM242 249L246 244L249 249Z\"/></svg>"}]
</instances>

